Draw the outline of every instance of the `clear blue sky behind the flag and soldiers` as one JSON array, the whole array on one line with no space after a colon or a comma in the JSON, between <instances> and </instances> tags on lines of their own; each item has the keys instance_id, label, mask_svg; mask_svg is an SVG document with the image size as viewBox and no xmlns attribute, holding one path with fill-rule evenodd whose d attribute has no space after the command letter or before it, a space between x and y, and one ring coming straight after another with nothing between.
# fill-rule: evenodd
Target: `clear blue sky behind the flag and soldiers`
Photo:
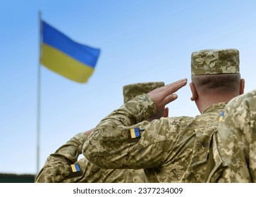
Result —
<instances>
[{"instance_id":1,"label":"clear blue sky behind the flag and soldiers","mask_svg":"<svg viewBox=\"0 0 256 197\"><path fill-rule=\"evenodd\" d=\"M40 167L123 103L123 85L187 77L190 55L236 48L245 91L256 88L256 1L5 1L0 8L0 173L36 172L38 11L71 39L102 50L78 84L42 67ZM169 115L197 115L190 89Z\"/></svg>"}]
</instances>

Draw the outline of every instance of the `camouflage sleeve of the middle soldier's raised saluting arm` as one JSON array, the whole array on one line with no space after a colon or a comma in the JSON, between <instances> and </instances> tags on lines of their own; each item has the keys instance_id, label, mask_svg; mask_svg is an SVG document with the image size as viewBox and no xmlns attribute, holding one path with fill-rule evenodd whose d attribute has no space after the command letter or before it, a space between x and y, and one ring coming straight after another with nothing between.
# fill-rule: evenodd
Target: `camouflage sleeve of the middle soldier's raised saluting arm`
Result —
<instances>
[{"instance_id":1,"label":"camouflage sleeve of the middle soldier's raised saluting arm","mask_svg":"<svg viewBox=\"0 0 256 197\"><path fill-rule=\"evenodd\" d=\"M143 121L155 112L150 96L136 96L99 122L85 141L83 154L102 168L139 169L164 163L178 137L178 127L166 118ZM131 132L136 128L134 137Z\"/></svg>"}]
</instances>

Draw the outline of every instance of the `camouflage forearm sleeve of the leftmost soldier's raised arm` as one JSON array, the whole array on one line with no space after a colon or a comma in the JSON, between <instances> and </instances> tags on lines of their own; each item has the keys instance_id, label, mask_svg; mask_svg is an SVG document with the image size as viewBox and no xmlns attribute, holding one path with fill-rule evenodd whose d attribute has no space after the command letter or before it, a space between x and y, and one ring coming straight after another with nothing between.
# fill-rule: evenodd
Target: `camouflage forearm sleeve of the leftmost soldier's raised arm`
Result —
<instances>
[{"instance_id":1,"label":"camouflage forearm sleeve of the leftmost soldier's raised arm","mask_svg":"<svg viewBox=\"0 0 256 197\"><path fill-rule=\"evenodd\" d=\"M49 155L35 182L63 182L71 174L71 164L78 160L86 139L87 134L85 132L77 134L58 148L55 153Z\"/></svg>"}]
</instances>

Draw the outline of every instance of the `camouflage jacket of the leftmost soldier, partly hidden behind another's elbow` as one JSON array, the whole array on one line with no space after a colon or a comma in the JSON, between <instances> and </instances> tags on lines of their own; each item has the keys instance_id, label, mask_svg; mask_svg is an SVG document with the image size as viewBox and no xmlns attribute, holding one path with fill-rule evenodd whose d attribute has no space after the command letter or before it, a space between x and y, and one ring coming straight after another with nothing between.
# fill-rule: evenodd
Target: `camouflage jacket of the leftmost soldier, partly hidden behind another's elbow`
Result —
<instances>
[{"instance_id":1,"label":"camouflage jacket of the leftmost soldier, partly hidden behind another's elbow","mask_svg":"<svg viewBox=\"0 0 256 197\"><path fill-rule=\"evenodd\" d=\"M87 139L85 133L74 136L61 146L56 153L49 155L44 167L39 172L37 183L141 183L145 182L142 169L103 169L90 163L86 158L78 160L82 145ZM80 172L72 172L71 164L77 163Z\"/></svg>"}]
</instances>

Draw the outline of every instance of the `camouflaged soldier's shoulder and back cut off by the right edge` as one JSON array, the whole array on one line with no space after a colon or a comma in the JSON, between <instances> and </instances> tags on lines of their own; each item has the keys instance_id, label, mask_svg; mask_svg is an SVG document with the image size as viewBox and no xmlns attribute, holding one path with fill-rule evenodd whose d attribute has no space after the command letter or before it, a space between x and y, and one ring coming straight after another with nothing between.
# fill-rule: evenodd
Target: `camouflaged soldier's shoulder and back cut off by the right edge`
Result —
<instances>
[{"instance_id":1,"label":"camouflaged soldier's shoulder and back cut off by the right edge","mask_svg":"<svg viewBox=\"0 0 256 197\"><path fill-rule=\"evenodd\" d=\"M219 124L217 139L217 148L214 148L216 165L209 182L255 183L256 90L228 103Z\"/></svg>"}]
</instances>

